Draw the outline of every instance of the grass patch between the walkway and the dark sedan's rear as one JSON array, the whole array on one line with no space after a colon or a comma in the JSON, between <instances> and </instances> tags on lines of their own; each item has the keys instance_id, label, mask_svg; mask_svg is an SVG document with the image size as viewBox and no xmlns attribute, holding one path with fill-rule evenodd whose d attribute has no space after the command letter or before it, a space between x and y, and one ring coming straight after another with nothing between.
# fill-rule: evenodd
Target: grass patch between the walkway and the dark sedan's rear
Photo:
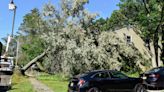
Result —
<instances>
[{"instance_id":1,"label":"grass patch between the walkway and the dark sedan's rear","mask_svg":"<svg viewBox=\"0 0 164 92\"><path fill-rule=\"evenodd\" d=\"M37 78L54 92L67 92L68 81L61 75L42 74Z\"/></svg>"}]
</instances>

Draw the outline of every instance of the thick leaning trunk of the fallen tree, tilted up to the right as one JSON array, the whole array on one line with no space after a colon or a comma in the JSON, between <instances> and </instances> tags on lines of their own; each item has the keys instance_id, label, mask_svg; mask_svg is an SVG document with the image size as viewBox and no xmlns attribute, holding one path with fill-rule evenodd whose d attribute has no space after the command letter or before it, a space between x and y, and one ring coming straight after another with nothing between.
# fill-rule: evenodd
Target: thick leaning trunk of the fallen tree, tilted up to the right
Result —
<instances>
[{"instance_id":1,"label":"thick leaning trunk of the fallen tree, tilted up to the right","mask_svg":"<svg viewBox=\"0 0 164 92\"><path fill-rule=\"evenodd\" d=\"M46 53L47 53L47 51L49 50L49 48L46 50L46 51L44 51L42 54L40 54L40 55L38 55L37 57L35 57L33 60L31 60L29 63L27 63L22 69L21 69L21 73L23 74L23 75L25 75L25 71L29 68L29 67L31 67L34 63L36 63L39 59L41 59L41 58L43 58L45 55L46 55Z\"/></svg>"}]
</instances>

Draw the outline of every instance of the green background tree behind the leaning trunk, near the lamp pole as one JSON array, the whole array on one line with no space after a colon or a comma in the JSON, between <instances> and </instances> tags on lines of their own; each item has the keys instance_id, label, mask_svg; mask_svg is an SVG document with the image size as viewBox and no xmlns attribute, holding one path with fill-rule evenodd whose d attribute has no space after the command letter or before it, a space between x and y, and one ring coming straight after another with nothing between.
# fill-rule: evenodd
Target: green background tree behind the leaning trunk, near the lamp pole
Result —
<instances>
[{"instance_id":1,"label":"green background tree behind the leaning trunk, near the lamp pole","mask_svg":"<svg viewBox=\"0 0 164 92\"><path fill-rule=\"evenodd\" d=\"M24 16L17 37L20 43L19 65L27 64L44 51L45 42L40 37L44 32L43 28L44 22L38 9L34 8Z\"/></svg>"}]
</instances>

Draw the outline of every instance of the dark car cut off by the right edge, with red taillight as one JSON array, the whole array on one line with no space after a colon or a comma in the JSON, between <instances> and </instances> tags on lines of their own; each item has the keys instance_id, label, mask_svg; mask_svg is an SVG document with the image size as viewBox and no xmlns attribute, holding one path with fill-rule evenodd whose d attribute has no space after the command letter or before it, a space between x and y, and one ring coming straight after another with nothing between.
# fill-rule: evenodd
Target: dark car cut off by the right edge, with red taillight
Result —
<instances>
[{"instance_id":1,"label":"dark car cut off by the right edge, with red taillight","mask_svg":"<svg viewBox=\"0 0 164 92\"><path fill-rule=\"evenodd\" d=\"M164 67L153 68L140 75L143 78L143 83L149 88L164 89Z\"/></svg>"}]
</instances>

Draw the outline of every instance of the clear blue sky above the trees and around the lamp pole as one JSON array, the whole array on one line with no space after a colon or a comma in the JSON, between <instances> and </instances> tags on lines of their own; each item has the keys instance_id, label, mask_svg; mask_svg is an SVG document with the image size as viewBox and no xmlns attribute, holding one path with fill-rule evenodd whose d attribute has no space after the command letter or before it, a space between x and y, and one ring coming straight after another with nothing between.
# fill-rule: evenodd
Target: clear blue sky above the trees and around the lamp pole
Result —
<instances>
[{"instance_id":1,"label":"clear blue sky above the trees and around the lamp pole","mask_svg":"<svg viewBox=\"0 0 164 92\"><path fill-rule=\"evenodd\" d=\"M59 4L59 0L14 0L17 5L16 21L14 34L18 31L20 24L23 21L23 16L30 12L33 8L42 9L42 6L47 2ZM0 0L0 40L11 34L13 12L8 10L10 0ZM93 13L98 13L100 17L109 17L113 10L118 9L116 6L119 0L90 0L86 5L86 9Z\"/></svg>"}]
</instances>

